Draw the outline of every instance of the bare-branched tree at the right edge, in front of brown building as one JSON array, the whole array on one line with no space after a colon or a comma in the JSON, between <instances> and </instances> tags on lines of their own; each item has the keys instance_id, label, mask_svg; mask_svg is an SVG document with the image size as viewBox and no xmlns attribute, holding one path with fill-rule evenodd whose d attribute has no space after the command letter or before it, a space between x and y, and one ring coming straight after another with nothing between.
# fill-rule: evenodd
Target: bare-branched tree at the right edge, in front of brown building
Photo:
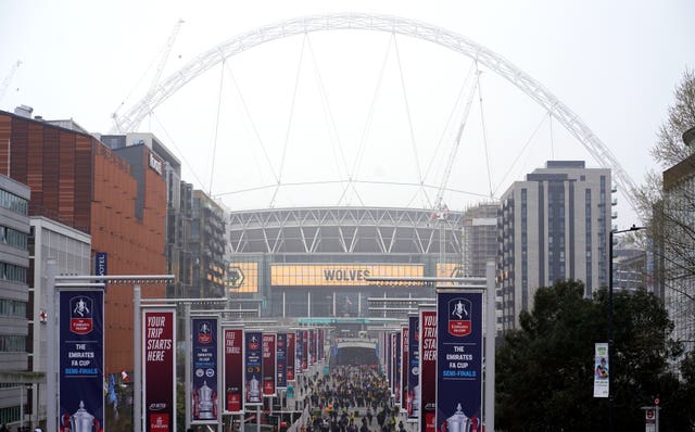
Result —
<instances>
[{"instance_id":1,"label":"bare-branched tree at the right edge, in front of brown building","mask_svg":"<svg viewBox=\"0 0 695 432\"><path fill-rule=\"evenodd\" d=\"M643 220L649 228L646 244L655 259L655 279L675 322L675 336L695 340L695 145L683 134L695 127L695 72L685 71L674 102L657 132L650 154L666 169L652 171L635 191Z\"/></svg>"}]
</instances>

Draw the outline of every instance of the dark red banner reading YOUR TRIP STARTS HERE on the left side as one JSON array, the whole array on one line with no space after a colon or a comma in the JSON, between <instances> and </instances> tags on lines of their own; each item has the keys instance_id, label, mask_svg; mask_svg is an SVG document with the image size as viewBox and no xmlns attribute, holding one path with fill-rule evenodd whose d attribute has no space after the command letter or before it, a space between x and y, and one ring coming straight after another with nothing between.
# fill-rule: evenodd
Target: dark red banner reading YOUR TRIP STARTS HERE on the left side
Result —
<instances>
[{"instance_id":1,"label":"dark red banner reading YOUR TRIP STARTS HERE on the left side","mask_svg":"<svg viewBox=\"0 0 695 432\"><path fill-rule=\"evenodd\" d=\"M176 309L142 309L146 432L176 432Z\"/></svg>"}]
</instances>

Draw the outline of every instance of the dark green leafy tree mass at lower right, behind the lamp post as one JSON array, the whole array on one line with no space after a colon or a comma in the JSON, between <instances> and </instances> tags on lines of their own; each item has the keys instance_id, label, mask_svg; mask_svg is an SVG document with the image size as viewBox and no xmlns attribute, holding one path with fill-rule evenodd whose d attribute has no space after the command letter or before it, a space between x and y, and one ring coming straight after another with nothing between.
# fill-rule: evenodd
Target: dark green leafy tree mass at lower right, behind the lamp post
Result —
<instances>
[{"instance_id":1,"label":"dark green leafy tree mass at lower right, behind the lamp post","mask_svg":"<svg viewBox=\"0 0 695 432\"><path fill-rule=\"evenodd\" d=\"M520 329L497 352L496 423L507 431L606 430L609 402L593 397L594 344L608 340L608 292L584 298L579 281L541 288ZM615 430L644 428L642 406L659 395L661 430L687 430L680 383L668 360L679 344L660 301L641 290L616 293L612 376ZM692 410L690 412L693 412ZM692 420L692 419L691 419Z\"/></svg>"}]
</instances>

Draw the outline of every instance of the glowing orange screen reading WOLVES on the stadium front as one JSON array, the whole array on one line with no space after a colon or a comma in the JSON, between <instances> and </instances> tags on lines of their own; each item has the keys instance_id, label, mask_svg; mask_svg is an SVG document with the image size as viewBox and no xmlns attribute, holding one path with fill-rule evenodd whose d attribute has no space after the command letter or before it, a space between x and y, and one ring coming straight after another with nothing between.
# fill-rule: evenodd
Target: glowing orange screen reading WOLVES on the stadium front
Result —
<instances>
[{"instance_id":1,"label":"glowing orange screen reading WOLVES on the stadium front","mask_svg":"<svg viewBox=\"0 0 695 432\"><path fill-rule=\"evenodd\" d=\"M327 264L270 266L270 284L274 287L365 287L374 282L369 277L420 278L425 266L391 264Z\"/></svg>"}]
</instances>

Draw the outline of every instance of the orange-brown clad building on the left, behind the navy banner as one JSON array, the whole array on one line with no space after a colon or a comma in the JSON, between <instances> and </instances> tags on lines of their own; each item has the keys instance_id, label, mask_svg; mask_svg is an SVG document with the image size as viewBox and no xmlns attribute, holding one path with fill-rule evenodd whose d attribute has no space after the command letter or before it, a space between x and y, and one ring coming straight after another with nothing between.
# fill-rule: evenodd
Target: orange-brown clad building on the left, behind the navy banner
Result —
<instances>
[{"instance_id":1,"label":"orange-brown clad building on the left, behind the navy banner","mask_svg":"<svg viewBox=\"0 0 695 432\"><path fill-rule=\"evenodd\" d=\"M92 257L105 252L110 275L165 274L166 182L156 156L141 145L131 151L142 163L131 164L72 120L58 124L68 127L0 111L0 173L30 188L29 215L90 234ZM143 297L165 291L142 285ZM132 370L132 287L108 285L104 298L105 372Z\"/></svg>"}]
</instances>

